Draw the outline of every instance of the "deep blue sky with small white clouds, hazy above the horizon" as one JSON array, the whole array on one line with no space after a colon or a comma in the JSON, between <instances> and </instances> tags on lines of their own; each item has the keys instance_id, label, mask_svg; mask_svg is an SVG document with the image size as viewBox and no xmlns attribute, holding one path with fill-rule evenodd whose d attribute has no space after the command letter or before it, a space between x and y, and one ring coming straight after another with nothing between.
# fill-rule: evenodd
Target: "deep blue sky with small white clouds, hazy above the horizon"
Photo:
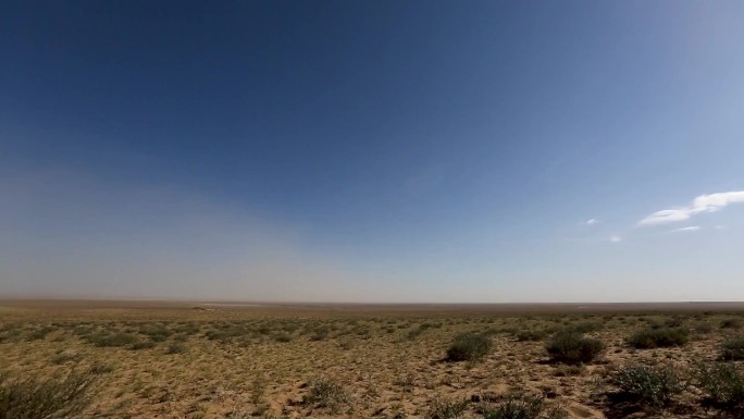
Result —
<instances>
[{"instance_id":1,"label":"deep blue sky with small white clouds, hazy above the horizon","mask_svg":"<svg viewBox=\"0 0 744 419\"><path fill-rule=\"evenodd\" d=\"M3 1L0 294L744 299L743 22Z\"/></svg>"}]
</instances>

